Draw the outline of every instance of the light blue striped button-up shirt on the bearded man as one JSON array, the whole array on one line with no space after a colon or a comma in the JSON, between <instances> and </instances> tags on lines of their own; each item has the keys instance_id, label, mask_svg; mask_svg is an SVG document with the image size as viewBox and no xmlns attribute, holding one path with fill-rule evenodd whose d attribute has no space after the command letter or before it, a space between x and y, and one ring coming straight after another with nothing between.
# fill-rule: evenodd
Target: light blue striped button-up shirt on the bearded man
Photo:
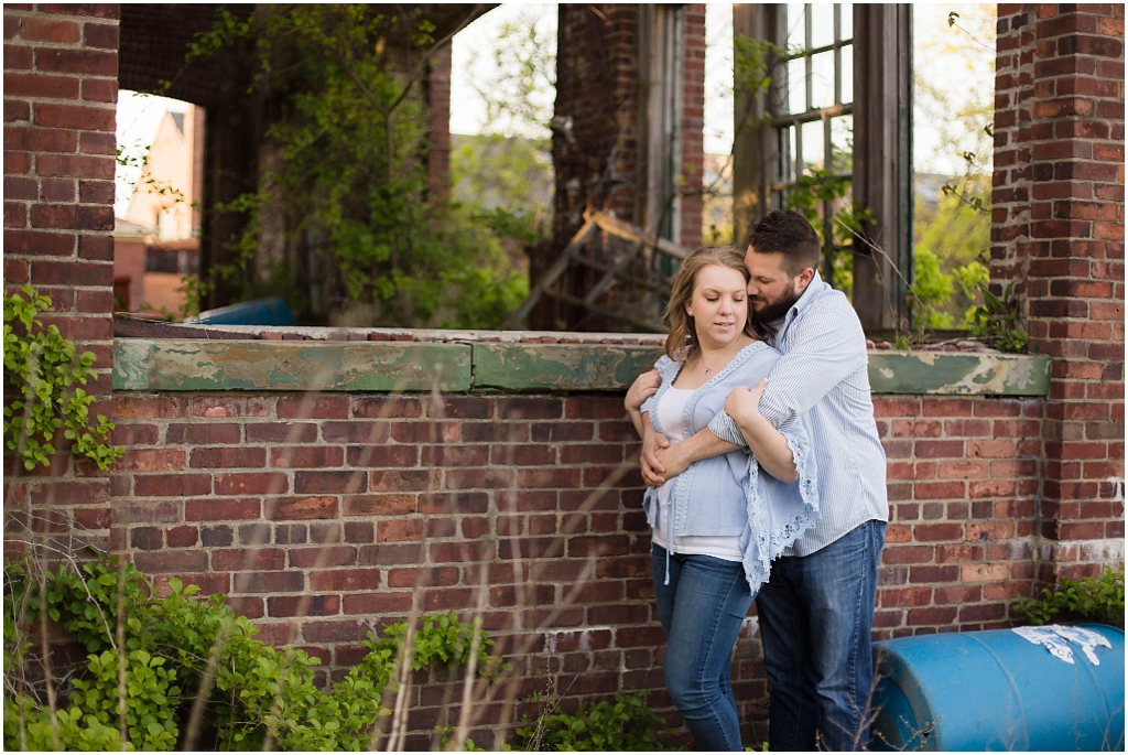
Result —
<instances>
[{"instance_id":1,"label":"light blue striped button-up shirt on the bearded man","mask_svg":"<svg viewBox=\"0 0 1128 755\"><path fill-rule=\"evenodd\" d=\"M760 413L786 427L809 412L820 500L814 527L783 555L810 555L871 519L889 520L865 333L846 296L816 273L769 343L783 357L768 376ZM708 427L717 438L747 446L723 411Z\"/></svg>"}]
</instances>

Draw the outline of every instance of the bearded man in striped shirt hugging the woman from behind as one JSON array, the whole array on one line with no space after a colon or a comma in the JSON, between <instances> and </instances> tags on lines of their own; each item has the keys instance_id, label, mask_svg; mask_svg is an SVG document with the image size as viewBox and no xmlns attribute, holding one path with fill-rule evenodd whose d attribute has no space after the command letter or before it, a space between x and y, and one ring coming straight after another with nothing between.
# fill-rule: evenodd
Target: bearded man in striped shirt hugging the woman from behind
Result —
<instances>
[{"instance_id":1,"label":"bearded man in striped shirt hugging the woman from behind","mask_svg":"<svg viewBox=\"0 0 1128 755\"><path fill-rule=\"evenodd\" d=\"M820 257L814 229L794 211L761 220L744 257L751 316L783 354L759 413L776 427L808 413L820 499L818 521L775 561L756 598L773 752L858 749L869 741L870 630L889 512L885 455L862 324L846 297L819 278ZM673 446L644 423L647 484L747 446L740 425L758 394L734 392L707 430Z\"/></svg>"}]
</instances>

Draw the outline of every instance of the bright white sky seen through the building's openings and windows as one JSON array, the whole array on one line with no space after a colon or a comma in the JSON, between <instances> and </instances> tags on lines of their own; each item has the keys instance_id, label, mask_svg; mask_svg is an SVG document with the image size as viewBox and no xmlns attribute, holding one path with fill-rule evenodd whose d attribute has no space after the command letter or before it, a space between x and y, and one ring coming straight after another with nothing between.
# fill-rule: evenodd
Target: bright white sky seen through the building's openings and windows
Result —
<instances>
[{"instance_id":1,"label":"bright white sky seen through the building's openings and windows","mask_svg":"<svg viewBox=\"0 0 1128 755\"><path fill-rule=\"evenodd\" d=\"M993 26L981 20L982 6L916 3L914 12L915 73L941 86L955 105L966 105L975 98L992 100L994 87ZM948 14L955 10L969 34L948 25ZM492 72L490 51L497 37L497 29L505 21L521 14L535 15L537 28L549 33L556 27L555 5L504 3L485 14L455 37L451 70L451 131L478 133L485 123L485 106L470 86L472 80L487 82ZM980 18L976 23L976 18ZM549 37L552 38L552 37ZM708 3L705 7L705 151L726 155L732 149L732 6ZM962 43L962 44L960 44ZM478 51L477 55L473 55ZM473 65L472 65L473 62ZM953 84L952 72L959 72ZM986 94L985 94L986 93ZM925 100L927 98L919 98ZM975 149L973 134L964 134L957 146L944 144L935 118L917 103L914 123L914 167L927 173L961 173L960 153ZM117 106L117 142L124 153L143 158L144 144L157 134L160 117L166 109L184 112L185 103L151 95L136 95L122 90ZM139 163L139 160L138 160ZM115 212L124 214L132 194L132 184L140 176L140 165L118 169L117 202Z\"/></svg>"}]
</instances>

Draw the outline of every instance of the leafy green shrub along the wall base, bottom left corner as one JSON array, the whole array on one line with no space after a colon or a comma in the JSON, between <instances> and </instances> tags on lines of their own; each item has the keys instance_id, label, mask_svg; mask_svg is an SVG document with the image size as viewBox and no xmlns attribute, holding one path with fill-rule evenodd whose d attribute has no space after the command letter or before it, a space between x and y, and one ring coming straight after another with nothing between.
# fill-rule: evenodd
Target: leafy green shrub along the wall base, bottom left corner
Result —
<instances>
[{"instance_id":1,"label":"leafy green shrub along the wall base, bottom left corner","mask_svg":"<svg viewBox=\"0 0 1128 755\"><path fill-rule=\"evenodd\" d=\"M130 749L170 750L180 714L196 695L206 696L218 749L360 750L390 711L404 657L407 625L382 637L369 632L365 658L325 691L315 684L316 658L303 650L273 648L257 630L223 605L223 596L195 597L196 586L169 580L169 595L132 564L109 559L37 571L30 562L5 564L5 734L8 749L121 749L118 723L121 649L125 664L125 725ZM118 596L121 595L121 598ZM85 674L52 713L43 691L29 682L32 643L21 627L43 614L60 623L90 653ZM475 642L475 634L477 641ZM414 638L413 668L442 661L456 668L476 652L479 673L496 675L485 632L453 612L424 616ZM54 721L52 721L54 716Z\"/></svg>"}]
</instances>

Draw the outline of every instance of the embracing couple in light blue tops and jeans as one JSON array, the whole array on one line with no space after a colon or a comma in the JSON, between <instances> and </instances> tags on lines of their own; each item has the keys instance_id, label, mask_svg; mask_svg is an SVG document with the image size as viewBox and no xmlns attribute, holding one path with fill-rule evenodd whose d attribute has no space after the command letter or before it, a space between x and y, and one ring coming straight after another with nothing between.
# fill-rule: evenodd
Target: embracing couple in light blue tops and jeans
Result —
<instances>
[{"instance_id":1,"label":"embracing couple in light blue tops and jeans","mask_svg":"<svg viewBox=\"0 0 1128 755\"><path fill-rule=\"evenodd\" d=\"M741 749L731 655L754 599L769 748L869 739L885 455L865 335L820 256L786 211L747 251L687 257L666 355L625 402L643 438L666 685L698 749Z\"/></svg>"}]
</instances>

